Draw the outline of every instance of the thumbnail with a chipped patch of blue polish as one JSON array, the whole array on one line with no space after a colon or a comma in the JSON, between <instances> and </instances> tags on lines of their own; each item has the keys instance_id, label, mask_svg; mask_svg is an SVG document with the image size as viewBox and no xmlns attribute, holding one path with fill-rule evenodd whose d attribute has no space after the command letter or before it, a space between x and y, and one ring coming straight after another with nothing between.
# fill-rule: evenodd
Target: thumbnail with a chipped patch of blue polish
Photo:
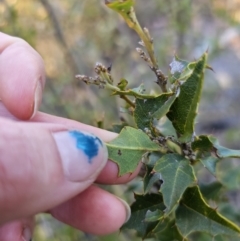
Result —
<instances>
[{"instance_id":1,"label":"thumbnail with a chipped patch of blue polish","mask_svg":"<svg viewBox=\"0 0 240 241\"><path fill-rule=\"evenodd\" d=\"M107 147L96 136L81 131L53 134L61 157L65 177L72 182L83 181L97 174L108 159Z\"/></svg>"}]
</instances>

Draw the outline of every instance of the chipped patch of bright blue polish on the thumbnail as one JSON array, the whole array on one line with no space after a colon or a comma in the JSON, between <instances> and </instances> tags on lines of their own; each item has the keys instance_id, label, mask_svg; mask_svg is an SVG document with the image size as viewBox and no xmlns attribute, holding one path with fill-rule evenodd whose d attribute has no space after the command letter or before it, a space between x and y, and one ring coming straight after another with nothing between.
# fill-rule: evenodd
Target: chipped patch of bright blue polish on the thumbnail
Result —
<instances>
[{"instance_id":1,"label":"chipped patch of bright blue polish on the thumbnail","mask_svg":"<svg viewBox=\"0 0 240 241\"><path fill-rule=\"evenodd\" d=\"M102 141L89 134L80 131L69 131L69 134L75 138L76 147L83 151L88 157L88 163L92 163L92 158L98 155L99 144L102 146Z\"/></svg>"}]
</instances>

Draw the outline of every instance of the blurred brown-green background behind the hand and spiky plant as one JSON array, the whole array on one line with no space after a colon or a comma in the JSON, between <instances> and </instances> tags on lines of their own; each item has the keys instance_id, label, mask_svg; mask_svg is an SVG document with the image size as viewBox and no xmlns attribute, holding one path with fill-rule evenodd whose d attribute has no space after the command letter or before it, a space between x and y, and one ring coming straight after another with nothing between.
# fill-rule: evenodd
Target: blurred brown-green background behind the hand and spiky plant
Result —
<instances>
[{"instance_id":1,"label":"blurred brown-green background behind the hand and spiky plant","mask_svg":"<svg viewBox=\"0 0 240 241\"><path fill-rule=\"evenodd\" d=\"M208 49L214 72L206 71L196 131L214 134L222 145L240 149L240 1L136 0L136 13L154 39L165 74L174 54L194 60ZM47 82L41 111L91 125L103 123L106 129L120 122L118 99L109 101L108 91L75 79L76 74L93 76L96 62L112 64L116 82L124 77L130 87L144 83L149 90L158 88L135 50L137 35L103 0L0 0L0 31L25 39L43 57ZM239 165L234 160L222 165L235 171L233 180L225 180L224 173L222 180L232 190L230 201L238 206ZM135 185L107 188L131 200L124 193ZM95 237L39 215L34 240L140 239L131 232Z\"/></svg>"}]
</instances>

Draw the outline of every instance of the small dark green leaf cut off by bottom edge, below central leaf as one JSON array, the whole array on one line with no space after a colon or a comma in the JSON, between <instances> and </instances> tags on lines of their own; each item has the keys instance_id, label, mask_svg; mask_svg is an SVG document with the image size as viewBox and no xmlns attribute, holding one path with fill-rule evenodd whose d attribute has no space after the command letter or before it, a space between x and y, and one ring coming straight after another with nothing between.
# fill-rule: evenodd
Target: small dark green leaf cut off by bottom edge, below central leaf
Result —
<instances>
[{"instance_id":1,"label":"small dark green leaf cut off by bottom edge, below central leaf","mask_svg":"<svg viewBox=\"0 0 240 241\"><path fill-rule=\"evenodd\" d=\"M161 220L152 231L157 240L161 241L184 241L185 239L177 229L174 220L165 218Z\"/></svg>"}]
</instances>

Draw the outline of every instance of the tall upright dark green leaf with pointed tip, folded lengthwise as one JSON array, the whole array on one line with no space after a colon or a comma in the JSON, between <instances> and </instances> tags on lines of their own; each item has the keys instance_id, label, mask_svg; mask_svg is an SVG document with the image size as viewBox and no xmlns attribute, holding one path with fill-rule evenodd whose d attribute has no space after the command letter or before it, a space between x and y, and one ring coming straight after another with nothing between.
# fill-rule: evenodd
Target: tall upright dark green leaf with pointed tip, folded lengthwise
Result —
<instances>
[{"instance_id":1,"label":"tall upright dark green leaf with pointed tip, folded lengthwise","mask_svg":"<svg viewBox=\"0 0 240 241\"><path fill-rule=\"evenodd\" d=\"M174 101L167 116L172 121L180 140L189 142L194 132L194 121L203 85L203 72L207 53L196 62L192 74L180 86L180 94Z\"/></svg>"}]
</instances>

